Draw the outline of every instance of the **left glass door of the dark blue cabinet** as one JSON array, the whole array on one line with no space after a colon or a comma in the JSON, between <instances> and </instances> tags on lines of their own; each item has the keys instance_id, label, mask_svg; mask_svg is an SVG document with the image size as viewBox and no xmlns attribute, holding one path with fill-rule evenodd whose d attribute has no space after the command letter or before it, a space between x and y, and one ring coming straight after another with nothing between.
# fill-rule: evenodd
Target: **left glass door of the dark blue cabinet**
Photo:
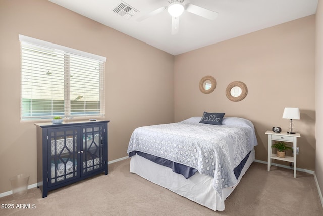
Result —
<instances>
[{"instance_id":1,"label":"left glass door of the dark blue cabinet","mask_svg":"<svg viewBox=\"0 0 323 216\"><path fill-rule=\"evenodd\" d=\"M48 130L49 185L61 184L80 177L78 134L78 129L73 127Z\"/></svg>"}]
</instances>

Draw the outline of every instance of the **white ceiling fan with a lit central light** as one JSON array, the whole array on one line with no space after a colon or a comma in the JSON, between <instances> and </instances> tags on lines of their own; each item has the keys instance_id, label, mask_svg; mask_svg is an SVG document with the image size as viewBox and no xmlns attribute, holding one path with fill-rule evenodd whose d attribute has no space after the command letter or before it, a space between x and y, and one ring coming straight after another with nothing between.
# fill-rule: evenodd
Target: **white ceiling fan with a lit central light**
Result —
<instances>
[{"instance_id":1,"label":"white ceiling fan with a lit central light","mask_svg":"<svg viewBox=\"0 0 323 216\"><path fill-rule=\"evenodd\" d=\"M179 17L184 11L188 11L192 14L196 14L209 20L215 20L218 16L217 12L202 8L197 5L190 3L183 5L184 0L169 0L168 2L170 3L168 6L158 8L150 12L149 14L138 18L137 21L143 21L151 16L157 15L167 10L168 13L172 16L172 34L177 34L179 29Z\"/></svg>"}]
</instances>

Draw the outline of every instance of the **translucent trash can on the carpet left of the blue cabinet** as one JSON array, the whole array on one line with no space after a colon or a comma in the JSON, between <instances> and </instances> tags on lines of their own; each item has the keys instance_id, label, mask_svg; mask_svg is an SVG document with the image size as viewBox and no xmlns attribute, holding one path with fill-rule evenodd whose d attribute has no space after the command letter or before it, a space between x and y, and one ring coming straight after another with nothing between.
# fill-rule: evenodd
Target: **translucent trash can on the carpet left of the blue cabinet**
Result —
<instances>
[{"instance_id":1,"label":"translucent trash can on the carpet left of the blue cabinet","mask_svg":"<svg viewBox=\"0 0 323 216\"><path fill-rule=\"evenodd\" d=\"M13 197L20 197L27 193L28 189L28 181L29 175L28 174L19 174L17 176L10 178L10 183L12 187L12 196Z\"/></svg>"}]
</instances>

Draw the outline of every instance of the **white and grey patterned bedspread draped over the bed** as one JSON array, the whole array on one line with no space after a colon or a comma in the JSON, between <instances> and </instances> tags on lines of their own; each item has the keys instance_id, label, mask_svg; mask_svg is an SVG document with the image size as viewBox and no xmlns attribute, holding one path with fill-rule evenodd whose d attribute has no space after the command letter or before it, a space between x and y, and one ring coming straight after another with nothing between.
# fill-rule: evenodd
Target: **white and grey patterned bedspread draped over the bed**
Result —
<instances>
[{"instance_id":1,"label":"white and grey patterned bedspread draped over the bed","mask_svg":"<svg viewBox=\"0 0 323 216\"><path fill-rule=\"evenodd\" d=\"M253 124L242 118L224 118L223 125L198 123L200 117L135 129L127 153L141 151L197 169L213 179L221 197L234 186L234 168L257 145Z\"/></svg>"}]
</instances>

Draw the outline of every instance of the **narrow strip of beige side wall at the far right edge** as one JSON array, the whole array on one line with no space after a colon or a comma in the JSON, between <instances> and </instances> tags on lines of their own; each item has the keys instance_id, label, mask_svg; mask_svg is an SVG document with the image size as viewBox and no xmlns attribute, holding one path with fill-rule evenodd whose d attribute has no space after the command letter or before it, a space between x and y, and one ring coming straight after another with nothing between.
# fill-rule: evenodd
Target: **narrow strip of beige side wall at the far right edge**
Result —
<instances>
[{"instance_id":1,"label":"narrow strip of beige side wall at the far right edge","mask_svg":"<svg viewBox=\"0 0 323 216\"><path fill-rule=\"evenodd\" d=\"M315 175L323 194L323 1L316 11L316 156ZM322 121L320 121L322 120ZM323 200L321 200L323 204Z\"/></svg>"}]
</instances>

